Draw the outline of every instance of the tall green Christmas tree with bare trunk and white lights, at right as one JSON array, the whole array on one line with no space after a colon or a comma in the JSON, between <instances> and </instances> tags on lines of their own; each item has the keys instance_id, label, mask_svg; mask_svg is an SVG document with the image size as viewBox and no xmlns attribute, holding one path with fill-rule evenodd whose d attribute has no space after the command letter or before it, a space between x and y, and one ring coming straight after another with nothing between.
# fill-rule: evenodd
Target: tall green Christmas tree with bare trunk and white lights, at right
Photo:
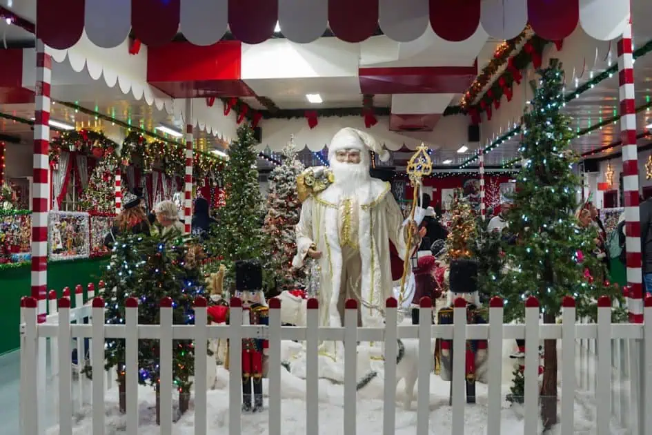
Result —
<instances>
[{"instance_id":1,"label":"tall green Christmas tree with bare trunk and white lights, at right","mask_svg":"<svg viewBox=\"0 0 652 435\"><path fill-rule=\"evenodd\" d=\"M519 240L504 247L511 270L499 289L506 302L506 320L524 318L524 300L535 296L544 323L555 323L564 296L574 296L577 315L586 316L595 313L597 296L615 297L619 292L590 278L600 274L600 264L591 255L596 235L591 229L578 229L573 216L580 180L572 171L575 157L569 151L573 138L569 117L560 112L564 104L561 65L552 59L549 68L538 74L539 87L531 84L535 95L524 114L519 151L525 163L507 215L509 228ZM557 422L555 340L544 344L541 404L544 428L549 429Z\"/></svg>"}]
</instances>

